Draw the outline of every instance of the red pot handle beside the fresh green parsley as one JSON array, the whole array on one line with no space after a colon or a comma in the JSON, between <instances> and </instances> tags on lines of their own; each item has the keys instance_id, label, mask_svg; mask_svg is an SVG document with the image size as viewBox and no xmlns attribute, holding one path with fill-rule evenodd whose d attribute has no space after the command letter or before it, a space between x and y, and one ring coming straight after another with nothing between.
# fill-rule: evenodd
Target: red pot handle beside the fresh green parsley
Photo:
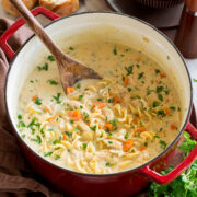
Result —
<instances>
[{"instance_id":1,"label":"red pot handle beside the fresh green parsley","mask_svg":"<svg viewBox=\"0 0 197 197\"><path fill-rule=\"evenodd\" d=\"M190 123L187 124L186 130L197 141L197 129ZM142 167L141 172L146 174L150 179L157 182L158 184L164 185L179 176L185 170L187 170L192 165L195 159L197 159L197 144L182 163L179 163L175 169L173 169L170 173L165 175L161 175L155 171L151 170L150 165Z\"/></svg>"}]
</instances>

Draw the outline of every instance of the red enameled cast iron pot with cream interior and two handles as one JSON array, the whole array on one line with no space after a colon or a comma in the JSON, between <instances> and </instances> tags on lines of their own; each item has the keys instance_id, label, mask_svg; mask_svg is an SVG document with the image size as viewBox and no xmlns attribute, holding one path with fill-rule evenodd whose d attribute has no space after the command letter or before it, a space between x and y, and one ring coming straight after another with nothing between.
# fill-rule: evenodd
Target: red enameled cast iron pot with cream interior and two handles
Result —
<instances>
[{"instance_id":1,"label":"red enameled cast iron pot with cream interior and two handles","mask_svg":"<svg viewBox=\"0 0 197 197\"><path fill-rule=\"evenodd\" d=\"M178 81L179 86L177 85L176 88L182 93L181 97L184 105L182 127L176 139L157 158L141 166L120 173L94 175L73 172L47 162L23 141L16 128L16 108L20 91L24 80L33 69L31 62L34 61L36 63L36 60L42 58L43 53L46 50L38 38L32 36L18 54L13 53L7 42L25 23L24 20L20 19L0 37L1 48L12 60L7 78L5 103L14 135L36 172L51 183L54 187L71 196L125 197L142 189L150 179L159 184L166 184L176 178L192 164L197 158L197 146L172 172L166 175L158 173L166 169L172 160L184 129L197 140L197 130L188 121L193 102L190 77L182 55L162 33L146 22L116 13L81 13L59 20L58 15L44 8L36 8L32 13L34 15L43 14L50 20L55 20L45 30L59 45L63 44L65 37L80 32L91 32L99 27L101 31L95 33L97 38L102 34L102 36L106 37L106 40L127 44L154 57L158 62L165 65L165 70L169 70L169 73L176 73L176 79L174 80Z\"/></svg>"}]
</instances>

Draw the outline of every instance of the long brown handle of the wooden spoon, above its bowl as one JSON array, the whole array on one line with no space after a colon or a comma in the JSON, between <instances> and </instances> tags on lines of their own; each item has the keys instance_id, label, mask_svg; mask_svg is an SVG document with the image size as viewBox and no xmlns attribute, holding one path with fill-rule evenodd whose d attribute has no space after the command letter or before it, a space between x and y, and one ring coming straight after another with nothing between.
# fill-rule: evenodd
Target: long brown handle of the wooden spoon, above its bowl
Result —
<instances>
[{"instance_id":1,"label":"long brown handle of the wooden spoon, above its bowl","mask_svg":"<svg viewBox=\"0 0 197 197\"><path fill-rule=\"evenodd\" d=\"M25 7L25 4L21 0L10 0L10 2L22 15L22 18L26 21L28 26L35 32L35 34L46 45L46 47L50 50L50 53L55 56L55 58L59 59L61 56L65 56L65 60L66 60L66 57L67 57L66 54L63 54L61 49L53 42L53 39L45 32L40 23L34 18L34 15L30 12L30 10ZM68 60L69 60L69 57L68 57Z\"/></svg>"}]
</instances>

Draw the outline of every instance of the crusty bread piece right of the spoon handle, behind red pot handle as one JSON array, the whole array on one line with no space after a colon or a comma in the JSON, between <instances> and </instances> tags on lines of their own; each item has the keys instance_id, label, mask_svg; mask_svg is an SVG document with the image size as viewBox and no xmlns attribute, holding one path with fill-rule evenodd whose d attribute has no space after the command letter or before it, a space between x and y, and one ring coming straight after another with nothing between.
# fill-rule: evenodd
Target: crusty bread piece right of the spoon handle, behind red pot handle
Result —
<instances>
[{"instance_id":1,"label":"crusty bread piece right of the spoon handle, behind red pot handle","mask_svg":"<svg viewBox=\"0 0 197 197\"><path fill-rule=\"evenodd\" d=\"M79 8L79 0L39 0L39 4L63 16Z\"/></svg>"}]
</instances>

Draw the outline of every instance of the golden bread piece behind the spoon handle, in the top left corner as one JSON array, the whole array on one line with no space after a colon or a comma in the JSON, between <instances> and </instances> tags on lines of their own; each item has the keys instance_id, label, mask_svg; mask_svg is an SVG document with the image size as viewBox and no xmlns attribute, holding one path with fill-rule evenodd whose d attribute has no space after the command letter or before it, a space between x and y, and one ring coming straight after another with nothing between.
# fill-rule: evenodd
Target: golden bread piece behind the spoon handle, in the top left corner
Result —
<instances>
[{"instance_id":1,"label":"golden bread piece behind the spoon handle, in the top left corner","mask_svg":"<svg viewBox=\"0 0 197 197\"><path fill-rule=\"evenodd\" d=\"M35 3L37 2L37 0L22 0L22 1L25 3L25 5L28 9L32 9L35 5ZM10 3L9 0L1 0L1 4L2 4L2 8L7 12L9 12L9 13L11 13L13 15L19 15L18 11L12 7L12 4Z\"/></svg>"}]
</instances>

